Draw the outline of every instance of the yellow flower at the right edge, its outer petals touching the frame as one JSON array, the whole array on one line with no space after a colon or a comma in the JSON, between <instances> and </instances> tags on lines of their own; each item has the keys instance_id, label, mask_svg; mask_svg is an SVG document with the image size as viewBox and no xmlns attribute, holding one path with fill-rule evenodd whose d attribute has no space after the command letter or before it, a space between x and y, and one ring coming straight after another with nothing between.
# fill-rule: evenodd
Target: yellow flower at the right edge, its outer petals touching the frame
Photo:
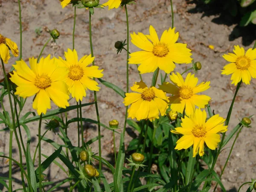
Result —
<instances>
[{"instance_id":1,"label":"yellow flower at the right edge, its outer petals touching the frame","mask_svg":"<svg viewBox=\"0 0 256 192\"><path fill-rule=\"evenodd\" d=\"M229 62L224 67L224 70L221 70L224 75L230 75L232 84L237 85L241 80L245 84L250 84L251 77L256 78L256 49L248 49L244 54L244 48L234 46L233 53L224 54L223 58Z\"/></svg>"}]
</instances>

